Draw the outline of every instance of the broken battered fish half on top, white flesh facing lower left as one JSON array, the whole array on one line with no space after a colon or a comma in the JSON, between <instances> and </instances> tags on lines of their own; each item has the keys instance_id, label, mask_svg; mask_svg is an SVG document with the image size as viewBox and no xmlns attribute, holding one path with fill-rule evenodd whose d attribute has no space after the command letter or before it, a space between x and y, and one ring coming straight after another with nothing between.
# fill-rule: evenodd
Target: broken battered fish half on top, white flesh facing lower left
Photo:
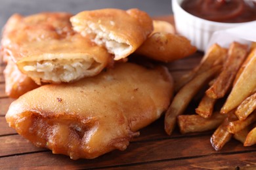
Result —
<instances>
[{"instance_id":1,"label":"broken battered fish half on top, white flesh facing lower left","mask_svg":"<svg viewBox=\"0 0 256 170\"><path fill-rule=\"evenodd\" d=\"M75 31L90 35L93 42L103 45L115 55L126 58L153 31L152 19L138 9L100 9L83 11L71 18Z\"/></svg>"}]
</instances>

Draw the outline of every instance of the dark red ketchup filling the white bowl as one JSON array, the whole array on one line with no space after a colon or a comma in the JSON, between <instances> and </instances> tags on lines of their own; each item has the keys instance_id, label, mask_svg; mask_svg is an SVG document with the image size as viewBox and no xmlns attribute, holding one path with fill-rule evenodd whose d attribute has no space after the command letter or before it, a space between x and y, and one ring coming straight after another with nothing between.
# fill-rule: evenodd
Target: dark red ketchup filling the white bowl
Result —
<instances>
[{"instance_id":1,"label":"dark red ketchup filling the white bowl","mask_svg":"<svg viewBox=\"0 0 256 170\"><path fill-rule=\"evenodd\" d=\"M256 2L253 0L184 0L181 7L194 16L214 22L256 20Z\"/></svg>"}]
</instances>

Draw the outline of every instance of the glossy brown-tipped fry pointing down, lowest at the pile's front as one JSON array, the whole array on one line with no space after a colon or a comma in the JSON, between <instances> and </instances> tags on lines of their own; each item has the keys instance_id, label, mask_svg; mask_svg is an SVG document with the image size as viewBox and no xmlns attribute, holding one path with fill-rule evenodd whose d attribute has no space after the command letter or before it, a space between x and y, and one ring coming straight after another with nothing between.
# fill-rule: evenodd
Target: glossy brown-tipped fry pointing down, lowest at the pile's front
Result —
<instances>
[{"instance_id":1,"label":"glossy brown-tipped fry pointing down, lowest at the pile's front","mask_svg":"<svg viewBox=\"0 0 256 170\"><path fill-rule=\"evenodd\" d=\"M213 146L213 148L215 148L215 150L221 150L224 144L226 144L231 139L233 134L227 131L226 126L234 119L234 114L231 113L230 115L228 115L228 117L225 118L223 123L215 130L215 132L211 136L211 145Z\"/></svg>"}]
</instances>

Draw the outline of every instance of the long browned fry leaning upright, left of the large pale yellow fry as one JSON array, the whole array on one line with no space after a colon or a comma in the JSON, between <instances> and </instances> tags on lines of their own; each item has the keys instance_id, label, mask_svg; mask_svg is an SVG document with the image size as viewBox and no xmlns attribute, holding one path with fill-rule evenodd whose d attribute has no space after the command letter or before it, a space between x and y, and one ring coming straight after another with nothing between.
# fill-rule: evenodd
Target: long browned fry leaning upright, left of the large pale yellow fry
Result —
<instances>
[{"instance_id":1,"label":"long browned fry leaning upright, left of the large pale yellow fry","mask_svg":"<svg viewBox=\"0 0 256 170\"><path fill-rule=\"evenodd\" d=\"M206 90L206 94L213 98L219 99L224 97L230 89L232 82L247 55L247 45L233 42L228 49L228 58L224 63L224 68L218 76L213 86Z\"/></svg>"}]
</instances>

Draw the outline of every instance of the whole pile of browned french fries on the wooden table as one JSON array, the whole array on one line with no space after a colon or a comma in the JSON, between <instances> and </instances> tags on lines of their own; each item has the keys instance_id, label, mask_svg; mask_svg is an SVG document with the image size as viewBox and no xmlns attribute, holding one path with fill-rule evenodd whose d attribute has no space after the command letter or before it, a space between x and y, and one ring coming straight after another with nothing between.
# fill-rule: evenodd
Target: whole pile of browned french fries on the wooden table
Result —
<instances>
[{"instance_id":1,"label":"whole pile of browned french fries on the wooden table","mask_svg":"<svg viewBox=\"0 0 256 170\"><path fill-rule=\"evenodd\" d=\"M192 99L205 89L195 113L187 114ZM238 42L228 49L213 44L200 64L177 80L175 92L165 113L168 135L178 124L181 133L215 129L210 139L215 150L232 137L244 146L256 143L256 42L251 48Z\"/></svg>"}]
</instances>

